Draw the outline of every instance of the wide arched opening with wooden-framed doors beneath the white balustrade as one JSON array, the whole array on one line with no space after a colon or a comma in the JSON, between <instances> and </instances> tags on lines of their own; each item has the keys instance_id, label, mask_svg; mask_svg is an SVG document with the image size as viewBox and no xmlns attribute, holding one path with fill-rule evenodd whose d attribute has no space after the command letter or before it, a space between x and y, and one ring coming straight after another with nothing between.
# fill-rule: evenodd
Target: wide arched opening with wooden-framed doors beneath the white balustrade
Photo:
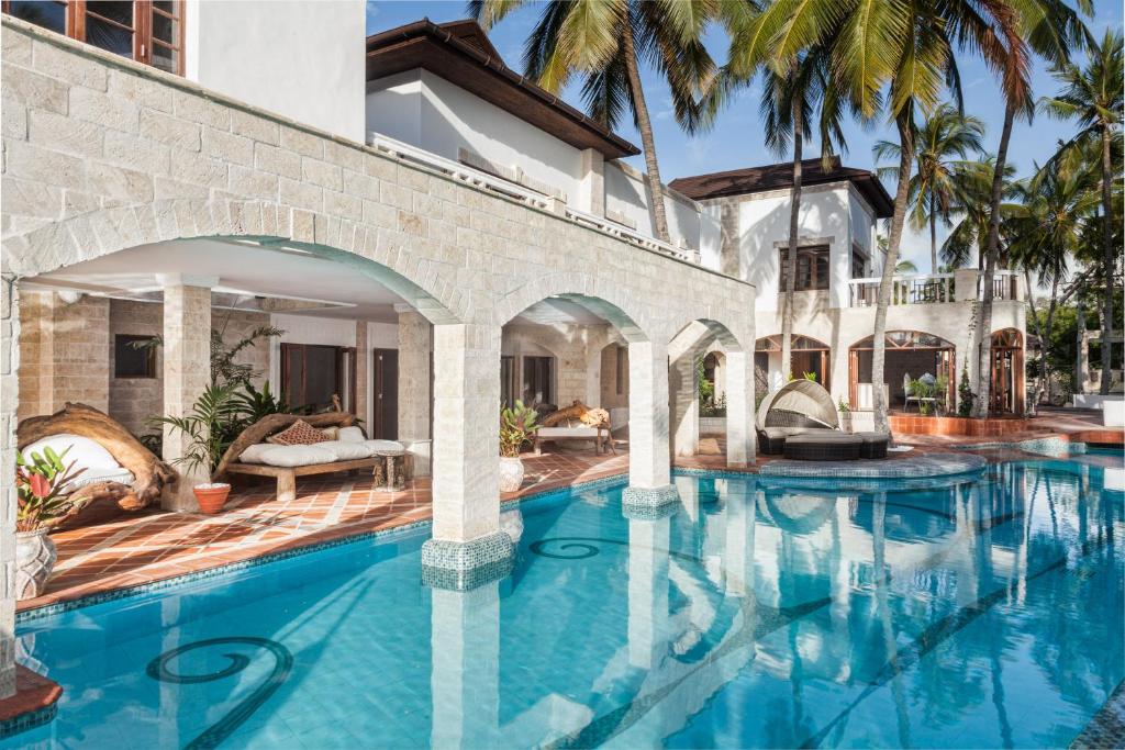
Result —
<instances>
[{"instance_id":1,"label":"wide arched opening with wooden-framed doors beneath the white balustrade","mask_svg":"<svg viewBox=\"0 0 1125 750\"><path fill-rule=\"evenodd\" d=\"M888 331L884 341L883 387L890 406L906 409L911 382L929 379L940 388L946 405L956 403L956 346L921 331ZM873 354L874 336L857 341L848 350L848 400L853 409L874 406Z\"/></svg>"}]
</instances>

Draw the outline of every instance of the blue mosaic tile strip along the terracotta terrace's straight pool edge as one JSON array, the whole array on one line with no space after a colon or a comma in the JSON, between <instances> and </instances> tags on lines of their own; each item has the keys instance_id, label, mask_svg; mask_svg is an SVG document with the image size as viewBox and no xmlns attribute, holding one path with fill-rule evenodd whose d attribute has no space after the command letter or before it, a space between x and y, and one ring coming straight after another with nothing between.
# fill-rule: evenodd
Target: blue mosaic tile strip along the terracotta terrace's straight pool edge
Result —
<instances>
[{"instance_id":1,"label":"blue mosaic tile strip along the terracotta terrace's straight pool edge","mask_svg":"<svg viewBox=\"0 0 1125 750\"><path fill-rule=\"evenodd\" d=\"M552 496L562 496L572 491L590 491L592 489L600 489L602 487L610 487L613 485L622 484L628 481L627 475L614 475L612 477L602 477L598 479L592 479L590 481L579 482L577 485L568 485L567 487L557 487L555 489L543 490L541 493L533 493L531 495L525 495L524 497L505 500L501 504L501 508L514 507L521 503L528 503L530 500L540 500ZM182 586L184 584L192 584L199 580L207 580L208 578L216 578L218 576L225 576L230 572L237 572L240 570L249 570L251 568L256 568L258 566L269 564L270 562L278 562L280 560L288 560L290 558L299 557L303 554L312 554L313 552L320 552L322 550L327 550L344 544L358 544L362 542L370 542L372 540L384 541L387 539L394 539L396 536L411 534L418 528L423 528L432 525L429 518L423 521L415 521L413 523L404 524L402 526L396 526L394 528L385 528L380 531L361 531L354 534L348 534L339 539L331 539L323 542L313 542L302 546L295 546L290 550L282 550L280 552L270 552L254 558L248 558L245 560L238 560L236 562L228 562L222 566L216 566L214 568L207 568L206 570L197 570L190 573L183 573L181 576L173 576L171 578L162 578L160 580L150 581L147 584L137 584L135 586L125 586L122 588L115 588L109 591L99 591L98 594L91 594L89 596L83 596L78 599L71 599L69 602L58 602L55 604L47 604L42 607L35 607L34 609L24 609L22 612L16 613L16 625L22 625L30 622L36 622L38 620L45 620L47 617L53 617L55 615L70 612L72 609L81 609L83 607L93 606L96 604L105 604L106 602L116 602L117 599L126 599L138 596L145 596L146 594L154 594L156 591L162 591L168 588L176 586Z\"/></svg>"}]
</instances>

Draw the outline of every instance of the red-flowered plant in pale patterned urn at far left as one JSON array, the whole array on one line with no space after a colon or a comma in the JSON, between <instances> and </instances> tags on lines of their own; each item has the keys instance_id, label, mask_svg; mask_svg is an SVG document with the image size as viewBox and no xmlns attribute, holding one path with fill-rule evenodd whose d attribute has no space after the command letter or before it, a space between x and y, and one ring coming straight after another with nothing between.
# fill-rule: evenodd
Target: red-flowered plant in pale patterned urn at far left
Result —
<instances>
[{"instance_id":1,"label":"red-flowered plant in pale patterned urn at far left","mask_svg":"<svg viewBox=\"0 0 1125 750\"><path fill-rule=\"evenodd\" d=\"M47 536L51 522L66 515L71 503L63 488L86 469L74 469L74 462L63 463L70 448L56 453L45 448L43 453L25 457L16 453L16 491L19 505L16 514L16 598L34 599L43 594L51 578L57 552Z\"/></svg>"}]
</instances>

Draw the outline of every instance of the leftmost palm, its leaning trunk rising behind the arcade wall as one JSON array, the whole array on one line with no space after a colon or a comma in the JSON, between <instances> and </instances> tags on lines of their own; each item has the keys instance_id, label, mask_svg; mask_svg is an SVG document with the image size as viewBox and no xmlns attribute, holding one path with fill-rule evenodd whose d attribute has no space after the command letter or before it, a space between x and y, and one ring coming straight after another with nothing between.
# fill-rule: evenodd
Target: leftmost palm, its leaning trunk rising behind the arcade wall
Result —
<instances>
[{"instance_id":1,"label":"leftmost palm, its leaning trunk rising behind the arcade wall","mask_svg":"<svg viewBox=\"0 0 1125 750\"><path fill-rule=\"evenodd\" d=\"M524 3L469 0L468 10L487 29ZM741 12L737 4L724 7ZM606 127L614 127L627 107L632 110L645 151L654 229L663 242L669 241L664 183L639 63L654 65L667 80L682 121L701 96L704 82L716 75L701 35L718 9L714 0L554 0L542 4L524 47L525 74L552 93L558 93L575 74L582 75L587 110Z\"/></svg>"}]
</instances>

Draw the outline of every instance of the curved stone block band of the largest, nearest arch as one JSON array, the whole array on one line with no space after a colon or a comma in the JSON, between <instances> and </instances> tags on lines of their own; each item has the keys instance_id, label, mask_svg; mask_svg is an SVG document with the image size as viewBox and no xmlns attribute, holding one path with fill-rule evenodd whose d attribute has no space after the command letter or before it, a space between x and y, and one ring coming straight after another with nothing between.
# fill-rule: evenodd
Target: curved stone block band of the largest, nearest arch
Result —
<instances>
[{"instance_id":1,"label":"curved stone block band of the largest, nearest arch","mask_svg":"<svg viewBox=\"0 0 1125 750\"><path fill-rule=\"evenodd\" d=\"M436 263L400 252L408 244L405 235L267 200L161 199L99 208L6 237L6 270L21 277L37 275L174 240L236 240L294 247L352 264L403 297L431 323L467 323L470 318L468 295L452 280L443 279Z\"/></svg>"}]
</instances>

